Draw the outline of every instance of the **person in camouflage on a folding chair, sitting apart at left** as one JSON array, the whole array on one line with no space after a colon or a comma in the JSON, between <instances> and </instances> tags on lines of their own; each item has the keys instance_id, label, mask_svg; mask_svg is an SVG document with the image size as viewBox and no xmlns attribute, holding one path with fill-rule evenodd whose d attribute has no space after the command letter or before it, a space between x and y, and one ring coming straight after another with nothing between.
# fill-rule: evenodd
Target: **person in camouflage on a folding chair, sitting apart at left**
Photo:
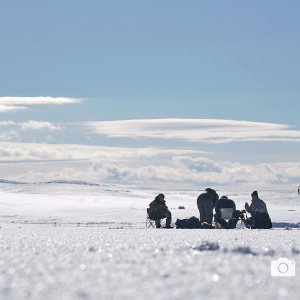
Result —
<instances>
[{"instance_id":1,"label":"person in camouflage on a folding chair, sitting apart at left","mask_svg":"<svg viewBox=\"0 0 300 300\"><path fill-rule=\"evenodd\" d=\"M148 211L149 218L151 220L155 220L156 228L160 228L160 220L166 219L165 228L173 228L171 227L172 215L166 206L165 196L164 194L159 194L155 197L155 199L149 204L150 209Z\"/></svg>"}]
</instances>

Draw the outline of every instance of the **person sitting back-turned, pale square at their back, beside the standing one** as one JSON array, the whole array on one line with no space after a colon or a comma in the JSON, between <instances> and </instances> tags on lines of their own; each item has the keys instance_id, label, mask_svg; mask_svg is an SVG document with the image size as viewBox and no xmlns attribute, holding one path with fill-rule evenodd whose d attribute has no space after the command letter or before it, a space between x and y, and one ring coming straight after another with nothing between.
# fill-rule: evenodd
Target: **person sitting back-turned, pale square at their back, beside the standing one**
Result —
<instances>
[{"instance_id":1,"label":"person sitting back-turned, pale square at their back, beside the standing one","mask_svg":"<svg viewBox=\"0 0 300 300\"><path fill-rule=\"evenodd\" d=\"M233 209L233 219L229 220L227 223L224 219L221 218L221 208L232 208ZM215 220L223 227L223 228L235 228L236 224L239 220L240 211L236 210L236 206L233 200L228 199L227 196L222 196L216 203L215 207L216 214L214 215Z\"/></svg>"}]
</instances>

